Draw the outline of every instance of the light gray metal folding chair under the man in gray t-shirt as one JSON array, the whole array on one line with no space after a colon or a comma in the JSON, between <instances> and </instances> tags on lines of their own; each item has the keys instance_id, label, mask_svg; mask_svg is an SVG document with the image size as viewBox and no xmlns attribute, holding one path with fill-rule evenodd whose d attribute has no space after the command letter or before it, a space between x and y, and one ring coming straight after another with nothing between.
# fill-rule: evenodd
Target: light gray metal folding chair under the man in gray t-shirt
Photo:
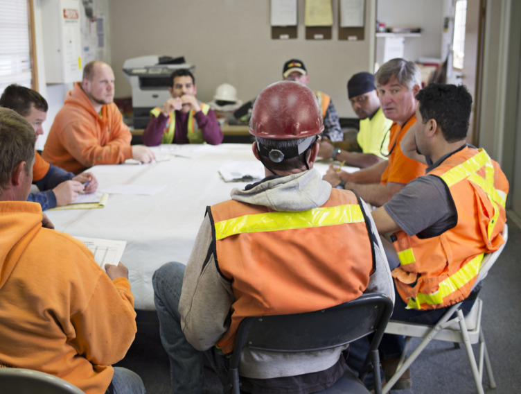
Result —
<instances>
[{"instance_id":1,"label":"light gray metal folding chair under the man in gray t-shirt","mask_svg":"<svg viewBox=\"0 0 521 394\"><path fill-rule=\"evenodd\" d=\"M497 257L500 257L501 252L506 245L506 240L509 238L509 228L507 225L504 226L502 236L505 240L503 245L495 252L488 253L482 261L479 268L479 274L477 275L474 287L481 282L484 277L488 274L488 270L491 269L493 264L496 262ZM488 384L491 388L495 388L495 380L492 374L491 361L488 359L488 352L486 350L485 337L481 328L482 323L482 310L483 302L480 298L477 298L473 308L467 316L463 316L463 311L460 309L461 302L456 305L452 305L448 311L441 316L440 320L435 325L421 325L416 323L405 323L402 321L389 320L389 324L385 328L386 334L397 334L404 335L405 349L402 357L398 363L398 368L393 377L386 382L383 393L389 393L391 387L400 379L403 372L411 366L414 360L418 358L423 349L427 347L430 341L448 341L453 343L463 343L470 362L470 369L472 370L474 382L476 384L477 392L484 394L483 391L483 365L486 368L486 374L488 376ZM452 315L455 317L452 317ZM407 354L407 348L411 338L423 338L423 341L414 349L412 354L405 359ZM476 363L472 345L479 342L479 364Z\"/></svg>"}]
</instances>

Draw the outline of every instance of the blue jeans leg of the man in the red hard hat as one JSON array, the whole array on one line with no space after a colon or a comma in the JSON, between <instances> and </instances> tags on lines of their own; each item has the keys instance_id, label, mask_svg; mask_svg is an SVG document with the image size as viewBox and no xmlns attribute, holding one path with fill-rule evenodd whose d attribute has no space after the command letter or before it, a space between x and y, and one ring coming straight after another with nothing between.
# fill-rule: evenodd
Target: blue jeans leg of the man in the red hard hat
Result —
<instances>
[{"instance_id":1,"label":"blue jeans leg of the man in the red hard hat","mask_svg":"<svg viewBox=\"0 0 521 394\"><path fill-rule=\"evenodd\" d=\"M159 317L161 343L170 360L173 393L203 393L204 358L225 384L228 361L215 346L200 352L186 341L181 329L179 298L183 285L184 264L167 263L154 272L154 303Z\"/></svg>"}]
</instances>

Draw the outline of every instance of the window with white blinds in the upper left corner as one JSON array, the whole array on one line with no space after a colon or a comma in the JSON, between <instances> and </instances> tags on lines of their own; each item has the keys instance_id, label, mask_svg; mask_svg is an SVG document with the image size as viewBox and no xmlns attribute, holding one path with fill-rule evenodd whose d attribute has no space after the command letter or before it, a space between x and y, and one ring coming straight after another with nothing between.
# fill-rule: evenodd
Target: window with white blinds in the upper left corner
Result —
<instances>
[{"instance_id":1,"label":"window with white blinds in the upper left corner","mask_svg":"<svg viewBox=\"0 0 521 394\"><path fill-rule=\"evenodd\" d=\"M33 83L30 1L0 0L0 94L12 83Z\"/></svg>"}]
</instances>

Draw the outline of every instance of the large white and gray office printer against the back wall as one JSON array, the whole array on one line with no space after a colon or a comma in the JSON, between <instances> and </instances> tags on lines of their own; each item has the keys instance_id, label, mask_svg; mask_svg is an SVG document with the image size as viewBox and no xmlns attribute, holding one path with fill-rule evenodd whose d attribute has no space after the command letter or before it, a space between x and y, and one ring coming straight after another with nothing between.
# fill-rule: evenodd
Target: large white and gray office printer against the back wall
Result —
<instances>
[{"instance_id":1,"label":"large white and gray office printer against the back wall","mask_svg":"<svg viewBox=\"0 0 521 394\"><path fill-rule=\"evenodd\" d=\"M150 121L150 110L162 107L170 99L170 74L176 69L194 68L185 62L184 57L150 55L125 60L123 75L132 87L134 128L145 128Z\"/></svg>"}]
</instances>

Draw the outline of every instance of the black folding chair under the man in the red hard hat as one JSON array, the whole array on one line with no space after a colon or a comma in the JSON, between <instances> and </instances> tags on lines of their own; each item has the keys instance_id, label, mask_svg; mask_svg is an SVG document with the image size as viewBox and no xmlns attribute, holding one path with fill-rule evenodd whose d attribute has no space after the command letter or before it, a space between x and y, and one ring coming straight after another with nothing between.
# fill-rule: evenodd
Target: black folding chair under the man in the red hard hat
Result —
<instances>
[{"instance_id":1,"label":"black folding chair under the man in the red hard hat","mask_svg":"<svg viewBox=\"0 0 521 394\"><path fill-rule=\"evenodd\" d=\"M245 347L270 352L310 352L336 348L374 333L360 376L346 370L341 379L321 393L369 393L362 382L367 372L373 370L376 393L380 394L378 345L392 310L390 298L370 293L320 311L245 318L240 323L231 356L228 388L233 394L241 393L239 363Z\"/></svg>"}]
</instances>

